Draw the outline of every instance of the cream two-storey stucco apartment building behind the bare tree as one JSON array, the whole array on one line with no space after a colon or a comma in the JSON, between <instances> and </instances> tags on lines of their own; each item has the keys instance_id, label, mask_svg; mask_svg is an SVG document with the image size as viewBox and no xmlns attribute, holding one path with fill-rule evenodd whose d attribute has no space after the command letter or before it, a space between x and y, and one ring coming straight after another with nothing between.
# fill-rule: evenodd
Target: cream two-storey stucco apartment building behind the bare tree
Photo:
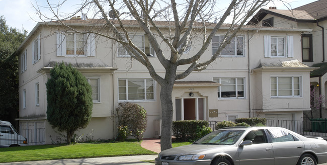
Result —
<instances>
[{"instance_id":1,"label":"cream two-storey stucco apartment building behind the bare tree","mask_svg":"<svg viewBox=\"0 0 327 165\"><path fill-rule=\"evenodd\" d=\"M103 20L66 20L80 29L103 23ZM133 30L137 25L126 21ZM162 26L168 25L161 22ZM160 86L147 69L132 60L117 42L94 34L69 33L56 23L38 23L20 46L19 74L21 129L45 128L45 143L60 135L47 122L46 87L50 69L56 62L71 63L89 80L93 89L93 114L89 126L76 132L90 134L94 139L114 139L116 108L119 102L133 102L147 110L144 137L160 134ZM97 26L94 26L95 28ZM99 26L100 27L100 26ZM210 32L210 26L208 31ZM203 58L217 51L224 25L213 38ZM128 29L131 30L131 29ZM301 63L301 37L309 30L244 26L221 55L206 70L192 72L176 81L173 89L174 120L234 121L240 117L302 120L303 111L310 110L312 67ZM135 33L133 40L149 56L159 74L160 65L146 36ZM200 36L202 37L202 36ZM185 54L193 55L199 40ZM85 46L80 46L85 45ZM169 53L166 47L161 48ZM181 67L180 69L183 69ZM182 71L182 70L181 70Z\"/></svg>"}]
</instances>

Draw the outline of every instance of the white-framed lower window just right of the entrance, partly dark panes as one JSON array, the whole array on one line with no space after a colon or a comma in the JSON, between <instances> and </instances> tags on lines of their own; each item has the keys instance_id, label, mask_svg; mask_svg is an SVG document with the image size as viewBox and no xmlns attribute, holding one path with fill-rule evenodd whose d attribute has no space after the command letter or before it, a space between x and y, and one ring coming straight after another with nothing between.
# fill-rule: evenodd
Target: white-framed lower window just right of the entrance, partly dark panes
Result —
<instances>
[{"instance_id":1,"label":"white-framed lower window just right of the entrance, partly dark panes","mask_svg":"<svg viewBox=\"0 0 327 165\"><path fill-rule=\"evenodd\" d=\"M221 79L235 79L235 95L236 97L221 97L222 96L222 87L224 86L223 84L221 84ZM238 85L237 84L237 79L243 79L243 97L238 97L237 93L241 92L240 90L238 90ZM217 96L218 99L245 99L246 98L246 78L245 77L217 77L217 78L213 78L214 82L217 82L219 84L221 84L221 86L218 87L218 94Z\"/></svg>"}]
</instances>

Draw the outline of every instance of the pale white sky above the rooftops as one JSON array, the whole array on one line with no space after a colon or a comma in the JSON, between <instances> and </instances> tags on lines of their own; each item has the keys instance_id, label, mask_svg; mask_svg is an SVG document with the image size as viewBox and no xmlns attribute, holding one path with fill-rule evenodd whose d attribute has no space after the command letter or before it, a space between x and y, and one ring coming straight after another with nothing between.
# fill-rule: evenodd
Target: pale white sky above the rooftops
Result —
<instances>
[{"instance_id":1,"label":"pale white sky above the rooftops","mask_svg":"<svg viewBox=\"0 0 327 165\"><path fill-rule=\"evenodd\" d=\"M58 2L51 0L52 2ZM62 0L60 0L61 2ZM226 0L217 0L226 1ZM316 0L284 0L287 1L292 8L296 8L299 6L303 6L305 4L309 4ZM17 29L25 29L29 32L37 24L36 21L40 21L38 15L36 14L35 9L32 6L33 4L38 4L39 6L47 6L45 0L0 0L0 16L4 16L6 19L6 23L9 27L17 28ZM74 11L77 7L76 4L80 3L80 0L74 1L67 1L65 4L65 8L67 9L67 13ZM282 4L270 4L266 8L269 7L277 7L277 9L284 9L287 8ZM69 11L71 9L72 11Z\"/></svg>"}]
</instances>

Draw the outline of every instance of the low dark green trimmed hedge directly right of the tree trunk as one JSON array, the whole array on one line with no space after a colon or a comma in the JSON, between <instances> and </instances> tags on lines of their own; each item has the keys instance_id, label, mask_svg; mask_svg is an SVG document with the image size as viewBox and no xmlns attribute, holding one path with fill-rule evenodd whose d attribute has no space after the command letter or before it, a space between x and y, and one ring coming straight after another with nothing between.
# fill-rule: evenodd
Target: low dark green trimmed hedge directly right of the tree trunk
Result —
<instances>
[{"instance_id":1,"label":"low dark green trimmed hedge directly right of the tree trunk","mask_svg":"<svg viewBox=\"0 0 327 165\"><path fill-rule=\"evenodd\" d=\"M192 141L208 132L209 123L205 120L173 121L173 134L179 140ZM194 129L196 128L196 129Z\"/></svg>"}]
</instances>

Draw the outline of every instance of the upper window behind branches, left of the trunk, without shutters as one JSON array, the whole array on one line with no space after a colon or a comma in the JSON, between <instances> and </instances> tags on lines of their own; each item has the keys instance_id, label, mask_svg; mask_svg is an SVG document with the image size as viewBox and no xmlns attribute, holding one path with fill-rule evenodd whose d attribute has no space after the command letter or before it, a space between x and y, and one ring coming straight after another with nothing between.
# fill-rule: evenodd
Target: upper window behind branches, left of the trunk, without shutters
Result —
<instances>
[{"instance_id":1,"label":"upper window behind branches, left of the trunk, without shutters","mask_svg":"<svg viewBox=\"0 0 327 165\"><path fill-rule=\"evenodd\" d=\"M129 34L129 38L132 40L133 44L137 46L142 52L147 56L155 56L153 47L148 40L148 37L144 34ZM118 43L117 45L118 57L129 57L130 53L125 49L125 47Z\"/></svg>"}]
</instances>

